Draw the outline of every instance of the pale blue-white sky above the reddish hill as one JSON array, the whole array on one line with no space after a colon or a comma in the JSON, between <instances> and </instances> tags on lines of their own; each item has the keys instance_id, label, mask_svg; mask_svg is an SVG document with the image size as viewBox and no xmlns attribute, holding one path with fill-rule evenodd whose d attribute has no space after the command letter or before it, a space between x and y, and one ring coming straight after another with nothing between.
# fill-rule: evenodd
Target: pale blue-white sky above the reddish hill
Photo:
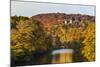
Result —
<instances>
[{"instance_id":1,"label":"pale blue-white sky above the reddish hill","mask_svg":"<svg viewBox=\"0 0 100 67\"><path fill-rule=\"evenodd\" d=\"M28 16L42 13L86 14L95 16L95 7L86 5L54 4L11 1L11 16Z\"/></svg>"}]
</instances>

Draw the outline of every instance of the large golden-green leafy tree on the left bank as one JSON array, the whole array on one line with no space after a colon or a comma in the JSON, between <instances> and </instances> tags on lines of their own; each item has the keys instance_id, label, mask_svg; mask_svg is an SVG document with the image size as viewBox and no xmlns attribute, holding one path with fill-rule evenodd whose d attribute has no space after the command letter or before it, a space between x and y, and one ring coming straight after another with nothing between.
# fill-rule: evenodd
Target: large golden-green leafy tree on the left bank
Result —
<instances>
[{"instance_id":1,"label":"large golden-green leafy tree on the left bank","mask_svg":"<svg viewBox=\"0 0 100 67\"><path fill-rule=\"evenodd\" d=\"M20 20L11 29L11 56L15 61L31 61L32 53L46 51L43 26L36 20ZM23 59L28 56L28 59Z\"/></svg>"}]
</instances>

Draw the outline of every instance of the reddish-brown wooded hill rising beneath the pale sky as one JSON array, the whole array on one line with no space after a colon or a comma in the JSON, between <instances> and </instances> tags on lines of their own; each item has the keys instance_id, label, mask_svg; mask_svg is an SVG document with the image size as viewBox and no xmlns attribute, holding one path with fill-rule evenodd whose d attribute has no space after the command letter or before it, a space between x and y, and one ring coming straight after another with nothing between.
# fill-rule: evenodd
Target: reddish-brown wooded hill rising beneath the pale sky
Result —
<instances>
[{"instance_id":1,"label":"reddish-brown wooded hill rising beneath the pale sky","mask_svg":"<svg viewBox=\"0 0 100 67\"><path fill-rule=\"evenodd\" d=\"M64 22L65 20L70 21L72 23L79 23L82 20L88 20L90 22L95 22L95 16L89 15L81 15L81 14L65 14L65 13L47 13L47 14L38 14L31 17L32 19L36 19L43 24L59 24Z\"/></svg>"}]
</instances>

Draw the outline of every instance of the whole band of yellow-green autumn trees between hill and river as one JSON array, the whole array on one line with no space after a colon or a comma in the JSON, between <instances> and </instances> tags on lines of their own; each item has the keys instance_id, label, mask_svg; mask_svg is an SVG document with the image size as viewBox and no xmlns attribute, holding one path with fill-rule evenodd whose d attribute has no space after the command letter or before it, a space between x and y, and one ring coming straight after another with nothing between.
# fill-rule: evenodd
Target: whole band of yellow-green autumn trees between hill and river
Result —
<instances>
[{"instance_id":1,"label":"whole band of yellow-green autumn trees between hill and river","mask_svg":"<svg viewBox=\"0 0 100 67\"><path fill-rule=\"evenodd\" d=\"M95 60L95 22L81 20L73 23L50 24L23 16L11 17L12 63L32 62L34 53L69 48L74 50L73 62Z\"/></svg>"}]
</instances>

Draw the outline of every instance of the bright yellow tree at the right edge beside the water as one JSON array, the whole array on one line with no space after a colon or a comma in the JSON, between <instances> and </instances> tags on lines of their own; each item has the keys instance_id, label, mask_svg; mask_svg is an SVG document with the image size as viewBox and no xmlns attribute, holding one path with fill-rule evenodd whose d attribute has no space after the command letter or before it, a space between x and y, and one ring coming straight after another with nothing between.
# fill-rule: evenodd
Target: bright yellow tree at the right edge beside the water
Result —
<instances>
[{"instance_id":1,"label":"bright yellow tree at the right edge beside the water","mask_svg":"<svg viewBox=\"0 0 100 67\"><path fill-rule=\"evenodd\" d=\"M95 24L89 23L86 30L83 33L84 41L82 54L85 61L94 61L95 60Z\"/></svg>"}]
</instances>

